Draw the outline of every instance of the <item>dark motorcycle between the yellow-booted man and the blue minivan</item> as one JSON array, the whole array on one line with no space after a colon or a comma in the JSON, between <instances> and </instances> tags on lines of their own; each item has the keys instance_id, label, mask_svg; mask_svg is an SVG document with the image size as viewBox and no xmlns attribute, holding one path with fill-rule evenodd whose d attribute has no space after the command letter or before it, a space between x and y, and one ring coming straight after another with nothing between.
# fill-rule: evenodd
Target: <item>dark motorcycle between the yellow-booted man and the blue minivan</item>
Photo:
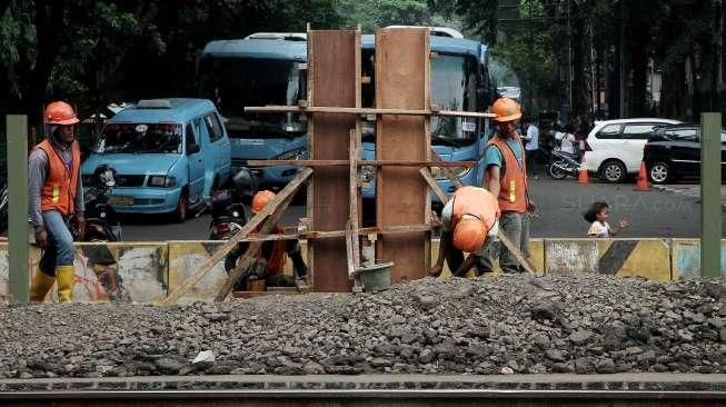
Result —
<instances>
[{"instance_id":1,"label":"dark motorcycle between the yellow-booted man and the blue minivan","mask_svg":"<svg viewBox=\"0 0 726 407\"><path fill-rule=\"evenodd\" d=\"M80 241L119 241L123 238L121 221L112 206L108 204L108 195L116 186L116 170L107 165L99 166L93 171L92 182L84 193L86 230ZM76 218L71 219L76 226ZM76 227L71 228L77 230ZM74 232L76 239L79 238Z\"/></svg>"}]
</instances>

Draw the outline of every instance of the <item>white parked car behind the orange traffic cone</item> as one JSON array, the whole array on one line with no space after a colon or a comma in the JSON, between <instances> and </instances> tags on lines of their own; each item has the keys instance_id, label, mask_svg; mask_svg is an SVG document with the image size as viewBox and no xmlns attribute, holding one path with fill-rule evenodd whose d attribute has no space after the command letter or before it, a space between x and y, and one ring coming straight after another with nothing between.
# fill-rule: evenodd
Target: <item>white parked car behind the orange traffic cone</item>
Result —
<instances>
[{"instance_id":1,"label":"white parked car behind the orange traffic cone","mask_svg":"<svg viewBox=\"0 0 726 407\"><path fill-rule=\"evenodd\" d=\"M606 182L623 182L640 169L643 148L655 128L677 123L669 119L596 121L585 143L587 170Z\"/></svg>"}]
</instances>

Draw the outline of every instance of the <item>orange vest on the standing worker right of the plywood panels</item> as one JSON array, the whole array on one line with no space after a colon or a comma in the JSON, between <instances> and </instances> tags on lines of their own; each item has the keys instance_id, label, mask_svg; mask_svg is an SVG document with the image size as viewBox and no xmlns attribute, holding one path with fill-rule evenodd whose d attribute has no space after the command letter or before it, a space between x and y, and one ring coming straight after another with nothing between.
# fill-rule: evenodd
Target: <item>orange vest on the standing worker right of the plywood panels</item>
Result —
<instances>
[{"instance_id":1,"label":"orange vest on the standing worker right of the plywood panels","mask_svg":"<svg viewBox=\"0 0 726 407\"><path fill-rule=\"evenodd\" d=\"M503 212L525 214L527 211L527 165L524 160L525 147L521 145L519 135L515 136L515 140L519 143L519 148L521 148L521 165L519 165L517 156L505 139L495 136L489 140L488 146L495 146L499 149L506 168L504 177L499 178L500 190L499 197L497 198L499 209ZM489 173L487 172L488 180Z\"/></svg>"}]
</instances>

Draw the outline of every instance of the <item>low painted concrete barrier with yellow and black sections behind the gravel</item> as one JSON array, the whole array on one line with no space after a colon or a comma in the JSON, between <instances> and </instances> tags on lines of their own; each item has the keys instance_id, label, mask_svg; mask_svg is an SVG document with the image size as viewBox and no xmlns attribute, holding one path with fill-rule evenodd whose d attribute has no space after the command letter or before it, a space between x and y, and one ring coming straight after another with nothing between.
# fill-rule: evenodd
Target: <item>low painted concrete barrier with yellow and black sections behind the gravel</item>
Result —
<instances>
[{"instance_id":1,"label":"low painted concrete barrier with yellow and black sections behind the gravel","mask_svg":"<svg viewBox=\"0 0 726 407\"><path fill-rule=\"evenodd\" d=\"M109 242L76 245L73 298L88 302L153 304L163 299L199 265L211 257L219 241ZM300 242L307 257L307 242ZM697 239L531 239L530 261L545 274L605 274L658 281L699 278L700 242ZM431 244L436 261L439 241ZM34 272L40 250L30 250ZM495 274L499 274L498 262ZM292 271L288 261L286 272ZM448 267L441 278L450 277ZM726 276L726 240L722 240L722 276ZM474 271L469 278L475 277ZM210 301L227 274L217 264L181 300ZM0 242L0 300L8 299L8 244ZM47 300L54 301L56 289Z\"/></svg>"}]
</instances>

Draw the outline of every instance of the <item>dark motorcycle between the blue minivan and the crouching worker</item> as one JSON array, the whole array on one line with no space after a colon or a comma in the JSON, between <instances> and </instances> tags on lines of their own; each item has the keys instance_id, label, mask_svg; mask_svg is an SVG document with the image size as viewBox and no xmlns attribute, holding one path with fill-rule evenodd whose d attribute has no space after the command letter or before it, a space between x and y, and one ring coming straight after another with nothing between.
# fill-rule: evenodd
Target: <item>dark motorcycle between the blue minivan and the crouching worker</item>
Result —
<instances>
[{"instance_id":1,"label":"dark motorcycle between the blue minivan and the crouching worker","mask_svg":"<svg viewBox=\"0 0 726 407\"><path fill-rule=\"evenodd\" d=\"M242 200L255 196L257 183L247 168L232 178L235 188L218 189L211 193L211 222L209 240L227 240L247 224L247 208Z\"/></svg>"}]
</instances>

